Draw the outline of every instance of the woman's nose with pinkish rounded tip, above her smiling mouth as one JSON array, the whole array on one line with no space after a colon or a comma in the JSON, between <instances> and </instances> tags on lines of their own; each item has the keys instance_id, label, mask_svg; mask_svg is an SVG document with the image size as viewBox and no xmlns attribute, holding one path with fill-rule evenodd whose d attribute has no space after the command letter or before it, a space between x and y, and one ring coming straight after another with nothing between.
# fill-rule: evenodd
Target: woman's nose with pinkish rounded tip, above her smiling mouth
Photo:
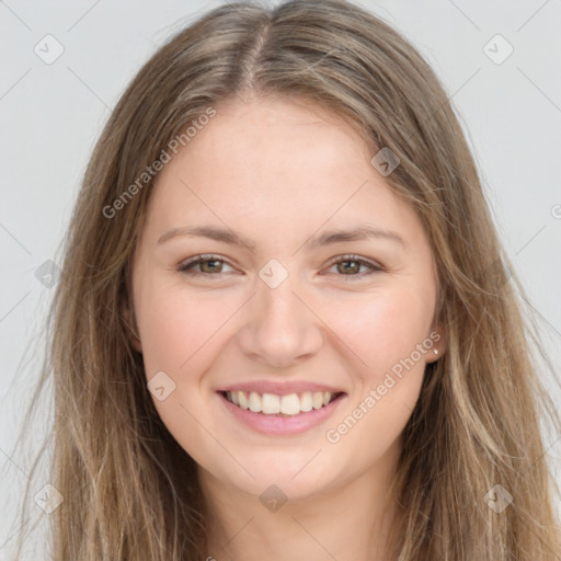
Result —
<instances>
[{"instance_id":1,"label":"woman's nose with pinkish rounded tip, above her smiling mouth","mask_svg":"<svg viewBox=\"0 0 561 561\"><path fill-rule=\"evenodd\" d=\"M256 279L237 341L240 348L264 366L287 368L309 359L323 345L324 333L306 290L289 274L272 287Z\"/></svg>"}]
</instances>

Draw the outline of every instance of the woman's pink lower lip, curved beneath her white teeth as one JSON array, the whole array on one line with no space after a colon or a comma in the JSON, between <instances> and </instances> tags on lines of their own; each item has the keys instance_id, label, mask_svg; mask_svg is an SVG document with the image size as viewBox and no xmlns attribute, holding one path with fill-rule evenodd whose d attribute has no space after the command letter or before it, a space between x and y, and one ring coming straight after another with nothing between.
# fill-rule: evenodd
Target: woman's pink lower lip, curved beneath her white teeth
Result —
<instances>
[{"instance_id":1,"label":"woman's pink lower lip, curved beneath her white teeth","mask_svg":"<svg viewBox=\"0 0 561 561\"><path fill-rule=\"evenodd\" d=\"M226 409L239 419L242 423L253 428L257 433L273 435L291 435L300 434L323 423L339 408L346 397L345 393L334 399L328 405L321 409L312 409L311 411L298 413L290 416L264 415L263 413L254 413L249 409L241 409L228 401L222 393L218 393L220 401Z\"/></svg>"}]
</instances>

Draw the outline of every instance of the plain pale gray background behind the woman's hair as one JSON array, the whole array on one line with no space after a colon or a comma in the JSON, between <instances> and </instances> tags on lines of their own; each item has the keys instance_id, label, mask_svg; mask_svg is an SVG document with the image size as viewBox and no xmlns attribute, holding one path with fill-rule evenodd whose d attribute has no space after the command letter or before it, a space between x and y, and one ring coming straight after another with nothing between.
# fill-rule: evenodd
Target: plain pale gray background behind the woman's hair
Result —
<instances>
[{"instance_id":1,"label":"plain pale gray background behind the woman's hair","mask_svg":"<svg viewBox=\"0 0 561 561\"><path fill-rule=\"evenodd\" d=\"M127 82L171 34L220 3L0 0L0 560L13 543L28 478L26 460L10 456L36 378L37 363L24 351L41 343L53 290L37 268L59 257L90 152ZM401 31L444 82L559 371L561 1L357 3ZM57 48L62 54L49 60ZM38 436L49 421L46 409ZM548 436L551 457L560 456L560 437ZM47 474L33 488L46 483ZM35 516L48 515L37 507Z\"/></svg>"}]
</instances>

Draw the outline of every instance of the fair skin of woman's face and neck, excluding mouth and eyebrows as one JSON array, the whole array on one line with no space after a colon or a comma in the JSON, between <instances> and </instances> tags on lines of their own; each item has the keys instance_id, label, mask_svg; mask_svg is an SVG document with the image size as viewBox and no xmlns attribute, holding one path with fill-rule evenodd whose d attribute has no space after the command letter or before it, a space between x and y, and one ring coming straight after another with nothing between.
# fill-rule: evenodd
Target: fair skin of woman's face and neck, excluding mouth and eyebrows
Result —
<instances>
[{"instance_id":1,"label":"fair skin of woman's face and neck, excluding mouth and eyebrows","mask_svg":"<svg viewBox=\"0 0 561 561\"><path fill-rule=\"evenodd\" d=\"M387 489L400 435L426 364L445 351L433 322L428 240L370 164L364 140L335 115L279 99L216 110L162 170L133 271L137 350L148 380L163 371L175 385L153 401L198 465L211 512L208 556L388 561L394 506ZM164 236L196 226L236 231L254 248ZM393 237L307 244L357 226ZM201 254L216 257L179 270ZM333 264L348 254L356 257ZM280 266L267 272L287 275L274 288L260 276L271 260ZM414 365L398 377L391 368L407 357ZM219 393L263 380L344 394L317 426L263 434ZM337 428L356 409L360 419ZM267 489L274 511L260 501Z\"/></svg>"}]
</instances>

